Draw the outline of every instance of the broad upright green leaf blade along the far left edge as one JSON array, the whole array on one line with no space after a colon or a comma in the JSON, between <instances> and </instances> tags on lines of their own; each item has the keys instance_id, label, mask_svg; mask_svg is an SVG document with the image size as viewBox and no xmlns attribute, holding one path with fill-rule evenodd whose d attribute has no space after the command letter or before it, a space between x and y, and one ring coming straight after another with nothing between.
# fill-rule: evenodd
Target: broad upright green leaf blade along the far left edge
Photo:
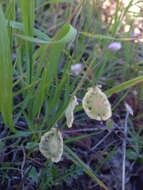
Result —
<instances>
[{"instance_id":1,"label":"broad upright green leaf blade along the far left edge","mask_svg":"<svg viewBox=\"0 0 143 190\"><path fill-rule=\"evenodd\" d=\"M15 131L12 120L12 57L6 20L0 6L0 111L4 122Z\"/></svg>"}]
</instances>

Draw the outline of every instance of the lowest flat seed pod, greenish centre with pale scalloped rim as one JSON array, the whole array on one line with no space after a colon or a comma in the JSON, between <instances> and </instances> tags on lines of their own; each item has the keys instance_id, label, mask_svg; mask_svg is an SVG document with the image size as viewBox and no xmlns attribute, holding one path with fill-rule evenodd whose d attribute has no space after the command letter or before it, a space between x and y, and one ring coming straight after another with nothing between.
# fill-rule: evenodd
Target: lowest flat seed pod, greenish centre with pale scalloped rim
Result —
<instances>
[{"instance_id":1,"label":"lowest flat seed pod, greenish centre with pale scalloped rim","mask_svg":"<svg viewBox=\"0 0 143 190\"><path fill-rule=\"evenodd\" d=\"M59 162L63 154L63 137L61 132L52 128L41 137L39 143L40 152L53 162Z\"/></svg>"}]
</instances>

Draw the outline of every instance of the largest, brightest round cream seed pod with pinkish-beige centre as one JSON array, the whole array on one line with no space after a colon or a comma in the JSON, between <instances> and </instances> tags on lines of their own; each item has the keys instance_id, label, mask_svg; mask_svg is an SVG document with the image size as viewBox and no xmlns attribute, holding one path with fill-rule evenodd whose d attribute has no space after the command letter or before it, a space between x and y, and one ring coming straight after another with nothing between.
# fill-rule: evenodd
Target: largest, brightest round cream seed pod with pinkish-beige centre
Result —
<instances>
[{"instance_id":1,"label":"largest, brightest round cream seed pod with pinkish-beige centre","mask_svg":"<svg viewBox=\"0 0 143 190\"><path fill-rule=\"evenodd\" d=\"M99 87L88 89L82 100L82 106L91 119L105 121L112 116L111 105Z\"/></svg>"}]
</instances>

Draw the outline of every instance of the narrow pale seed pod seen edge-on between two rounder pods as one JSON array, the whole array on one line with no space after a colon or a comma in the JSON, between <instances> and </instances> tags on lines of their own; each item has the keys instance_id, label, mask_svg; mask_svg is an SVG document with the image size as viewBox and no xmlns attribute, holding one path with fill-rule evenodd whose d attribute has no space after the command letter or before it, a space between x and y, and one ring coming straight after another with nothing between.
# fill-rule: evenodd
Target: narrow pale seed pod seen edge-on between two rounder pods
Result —
<instances>
[{"instance_id":1,"label":"narrow pale seed pod seen edge-on between two rounder pods","mask_svg":"<svg viewBox=\"0 0 143 190\"><path fill-rule=\"evenodd\" d=\"M73 112L74 112L76 105L78 105L77 97L74 96L73 100L69 103L69 105L65 111L65 116L66 116L68 128L72 127L72 124L74 121L74 113Z\"/></svg>"}]
</instances>

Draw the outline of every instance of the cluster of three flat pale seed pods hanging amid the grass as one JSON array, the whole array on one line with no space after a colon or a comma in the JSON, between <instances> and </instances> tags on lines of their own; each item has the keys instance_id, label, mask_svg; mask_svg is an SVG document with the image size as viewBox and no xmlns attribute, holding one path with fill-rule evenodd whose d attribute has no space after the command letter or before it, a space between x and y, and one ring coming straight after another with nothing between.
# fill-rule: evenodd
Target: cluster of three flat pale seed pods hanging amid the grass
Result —
<instances>
[{"instance_id":1,"label":"cluster of three flat pale seed pods hanging amid the grass","mask_svg":"<svg viewBox=\"0 0 143 190\"><path fill-rule=\"evenodd\" d=\"M78 105L78 102L76 96L74 96L65 111L68 127L72 127L74 120L73 111L76 105ZM105 121L112 116L108 98L99 87L88 89L82 100L82 106L91 119ZM63 137L61 132L56 128L52 128L45 133L41 137L39 149L47 159L51 159L53 162L59 162L63 154Z\"/></svg>"}]
</instances>

